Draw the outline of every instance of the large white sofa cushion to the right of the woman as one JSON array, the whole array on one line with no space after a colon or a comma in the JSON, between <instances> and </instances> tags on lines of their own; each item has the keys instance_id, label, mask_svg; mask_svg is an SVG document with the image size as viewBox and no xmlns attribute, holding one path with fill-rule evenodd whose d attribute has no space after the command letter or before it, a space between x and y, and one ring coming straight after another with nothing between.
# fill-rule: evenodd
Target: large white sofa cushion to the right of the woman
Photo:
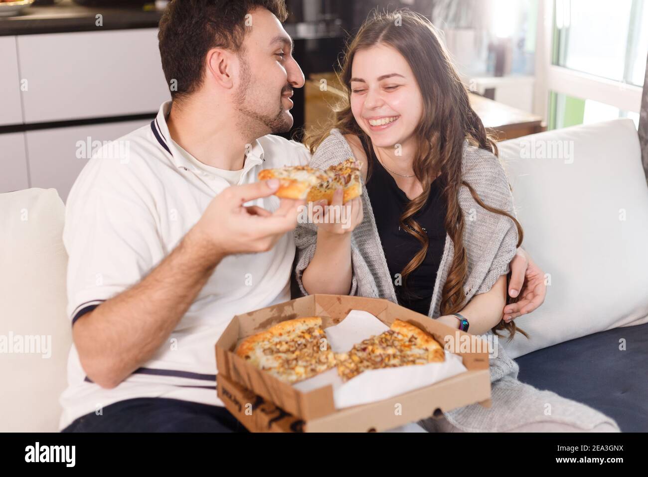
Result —
<instances>
[{"instance_id":1,"label":"large white sofa cushion to the right of the woman","mask_svg":"<svg viewBox=\"0 0 648 477\"><path fill-rule=\"evenodd\" d=\"M559 146L562 154L552 158ZM503 343L507 352L516 358L646 323L648 187L634 123L619 119L504 141L500 156L524 228L522 247L551 280L544 304L516 319L531 339L516 334Z\"/></svg>"}]
</instances>

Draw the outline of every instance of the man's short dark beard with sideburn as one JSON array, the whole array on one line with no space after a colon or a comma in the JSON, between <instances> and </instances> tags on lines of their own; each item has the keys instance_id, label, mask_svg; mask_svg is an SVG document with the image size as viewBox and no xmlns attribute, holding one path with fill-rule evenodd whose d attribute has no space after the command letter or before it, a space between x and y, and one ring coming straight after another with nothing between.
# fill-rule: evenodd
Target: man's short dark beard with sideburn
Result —
<instances>
[{"instance_id":1,"label":"man's short dark beard with sideburn","mask_svg":"<svg viewBox=\"0 0 648 477\"><path fill-rule=\"evenodd\" d=\"M275 132L286 132L292 127L292 120L289 114L284 114L283 105L281 104L281 97L279 97L279 104L277 105L277 114L261 114L258 110L254 109L253 104L247 101L249 86L251 83L251 71L248 63L240 57L242 64L242 82L235 96L235 104L237 104L237 112L240 113L239 127L246 133L246 135L253 133L256 137L265 136L266 134L273 134ZM284 90L290 91L290 85L286 85ZM282 90L282 93L284 92Z\"/></svg>"}]
</instances>

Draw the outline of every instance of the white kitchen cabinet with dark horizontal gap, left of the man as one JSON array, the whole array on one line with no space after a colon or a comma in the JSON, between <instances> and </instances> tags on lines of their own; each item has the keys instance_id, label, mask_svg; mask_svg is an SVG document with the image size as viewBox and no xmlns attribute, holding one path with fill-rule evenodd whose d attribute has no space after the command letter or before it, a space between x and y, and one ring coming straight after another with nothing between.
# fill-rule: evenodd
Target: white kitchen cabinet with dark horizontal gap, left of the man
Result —
<instances>
[{"instance_id":1,"label":"white kitchen cabinet with dark horizontal gap, left of the man","mask_svg":"<svg viewBox=\"0 0 648 477\"><path fill-rule=\"evenodd\" d=\"M0 192L64 201L87 162L78 141L148 125L170 99L157 28L0 36L0 91Z\"/></svg>"}]
</instances>

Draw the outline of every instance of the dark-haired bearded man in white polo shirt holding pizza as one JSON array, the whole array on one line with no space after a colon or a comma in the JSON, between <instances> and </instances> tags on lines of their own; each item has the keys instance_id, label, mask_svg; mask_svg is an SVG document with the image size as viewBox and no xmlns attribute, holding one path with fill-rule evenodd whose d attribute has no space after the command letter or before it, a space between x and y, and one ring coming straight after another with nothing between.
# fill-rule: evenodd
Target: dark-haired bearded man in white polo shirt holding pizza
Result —
<instances>
[{"instance_id":1,"label":"dark-haired bearded man in white polo shirt holding pizza","mask_svg":"<svg viewBox=\"0 0 648 477\"><path fill-rule=\"evenodd\" d=\"M67 202L64 432L242 429L214 391L214 343L233 315L290 299L303 202L255 181L309 160L270 135L292 127L304 84L286 16L283 0L196 0L161 19L172 101L118 140L128 157L90 160ZM520 289L527 259L516 260ZM537 307L538 290L511 314Z\"/></svg>"}]
</instances>

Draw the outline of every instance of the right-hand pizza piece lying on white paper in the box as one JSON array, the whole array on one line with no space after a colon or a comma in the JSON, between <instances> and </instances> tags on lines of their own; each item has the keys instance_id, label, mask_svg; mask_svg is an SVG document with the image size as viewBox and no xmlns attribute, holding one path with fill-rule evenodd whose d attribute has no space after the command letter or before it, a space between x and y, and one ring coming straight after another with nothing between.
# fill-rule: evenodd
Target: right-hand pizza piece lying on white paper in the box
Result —
<instances>
[{"instance_id":1,"label":"right-hand pizza piece lying on white paper in the box","mask_svg":"<svg viewBox=\"0 0 648 477\"><path fill-rule=\"evenodd\" d=\"M397 319L386 332L336 354L336 361L338 374L346 382L369 369L445 361L445 352L430 334Z\"/></svg>"}]
</instances>

